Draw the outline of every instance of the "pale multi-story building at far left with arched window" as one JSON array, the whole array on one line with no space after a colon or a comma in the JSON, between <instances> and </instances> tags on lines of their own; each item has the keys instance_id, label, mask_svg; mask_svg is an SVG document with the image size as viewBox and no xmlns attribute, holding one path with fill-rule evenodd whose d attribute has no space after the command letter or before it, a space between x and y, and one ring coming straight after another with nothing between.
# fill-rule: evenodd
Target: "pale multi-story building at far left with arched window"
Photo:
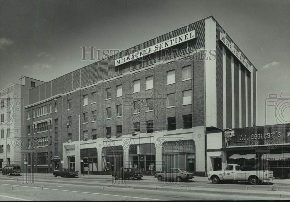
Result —
<instances>
[{"instance_id":1,"label":"pale multi-story building at far left with arched window","mask_svg":"<svg viewBox=\"0 0 290 202\"><path fill-rule=\"evenodd\" d=\"M20 84L11 83L0 90L0 169L6 164L21 164L22 138L26 138L26 111L29 89L43 84L29 77L20 78Z\"/></svg>"}]
</instances>

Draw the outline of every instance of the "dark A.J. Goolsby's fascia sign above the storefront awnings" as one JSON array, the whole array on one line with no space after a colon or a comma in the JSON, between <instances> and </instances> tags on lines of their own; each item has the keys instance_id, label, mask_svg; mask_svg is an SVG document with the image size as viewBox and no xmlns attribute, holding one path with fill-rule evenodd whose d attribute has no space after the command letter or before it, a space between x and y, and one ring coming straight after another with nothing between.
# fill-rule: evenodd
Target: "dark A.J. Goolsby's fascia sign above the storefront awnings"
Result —
<instances>
[{"instance_id":1,"label":"dark A.J. Goolsby's fascia sign above the storefront awnings","mask_svg":"<svg viewBox=\"0 0 290 202\"><path fill-rule=\"evenodd\" d=\"M231 129L229 129L231 131ZM255 126L249 128L235 128L234 135L228 137L228 131L224 132L227 146L254 146L254 145L278 145L290 143L290 124Z\"/></svg>"}]
</instances>

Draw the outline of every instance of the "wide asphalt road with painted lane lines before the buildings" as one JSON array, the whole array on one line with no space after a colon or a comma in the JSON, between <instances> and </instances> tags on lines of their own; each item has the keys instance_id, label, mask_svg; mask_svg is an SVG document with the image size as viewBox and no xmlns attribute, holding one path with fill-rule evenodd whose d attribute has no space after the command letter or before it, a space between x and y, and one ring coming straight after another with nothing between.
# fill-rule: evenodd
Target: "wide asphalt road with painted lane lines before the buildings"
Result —
<instances>
[{"instance_id":1,"label":"wide asphalt road with painted lane lines before the buildings","mask_svg":"<svg viewBox=\"0 0 290 202\"><path fill-rule=\"evenodd\" d=\"M112 180L34 176L0 177L0 201L9 200L289 200L281 197L257 196L254 192L273 192L273 186L247 183L212 184L210 182L159 182L152 180ZM208 190L206 193L198 190ZM211 193L211 190L213 193ZM227 194L214 192L222 190ZM239 190L242 194L231 193ZM289 186L280 186L279 193L289 193Z\"/></svg>"}]
</instances>

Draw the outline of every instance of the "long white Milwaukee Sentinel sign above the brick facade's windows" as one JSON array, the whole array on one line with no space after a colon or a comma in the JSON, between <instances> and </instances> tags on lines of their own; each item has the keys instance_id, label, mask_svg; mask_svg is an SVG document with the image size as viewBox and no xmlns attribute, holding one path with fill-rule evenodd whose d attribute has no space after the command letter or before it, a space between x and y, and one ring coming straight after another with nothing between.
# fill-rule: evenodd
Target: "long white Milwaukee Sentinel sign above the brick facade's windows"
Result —
<instances>
[{"instance_id":1,"label":"long white Milwaukee Sentinel sign above the brick facade's windows","mask_svg":"<svg viewBox=\"0 0 290 202\"><path fill-rule=\"evenodd\" d=\"M185 42L185 41L189 41L193 38L195 38L195 30L193 30L191 32L187 32L185 34L181 34L181 35L176 36L174 38L171 38L171 39L168 39L168 40L163 41L161 43L158 43L156 45L150 46L148 48L139 50L139 51L132 53L130 55L119 58L119 59L115 60L115 66L122 65L124 63L128 63L128 62L130 62L132 60L136 60L138 58L142 58L142 57L149 55L151 53L158 52L162 49L177 45L177 44Z\"/></svg>"}]
</instances>

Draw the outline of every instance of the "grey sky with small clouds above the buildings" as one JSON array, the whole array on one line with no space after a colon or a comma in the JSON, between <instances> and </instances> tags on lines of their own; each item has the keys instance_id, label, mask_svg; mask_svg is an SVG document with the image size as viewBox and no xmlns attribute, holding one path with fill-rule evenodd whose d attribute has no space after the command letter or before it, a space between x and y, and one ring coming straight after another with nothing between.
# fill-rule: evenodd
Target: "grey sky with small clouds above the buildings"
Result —
<instances>
[{"instance_id":1,"label":"grey sky with small clouds above the buildings","mask_svg":"<svg viewBox=\"0 0 290 202\"><path fill-rule=\"evenodd\" d=\"M0 0L0 89L93 63L81 60L81 46L127 49L213 15L258 69L256 124L289 123L290 93L280 98L290 91L289 11L289 0Z\"/></svg>"}]
</instances>

